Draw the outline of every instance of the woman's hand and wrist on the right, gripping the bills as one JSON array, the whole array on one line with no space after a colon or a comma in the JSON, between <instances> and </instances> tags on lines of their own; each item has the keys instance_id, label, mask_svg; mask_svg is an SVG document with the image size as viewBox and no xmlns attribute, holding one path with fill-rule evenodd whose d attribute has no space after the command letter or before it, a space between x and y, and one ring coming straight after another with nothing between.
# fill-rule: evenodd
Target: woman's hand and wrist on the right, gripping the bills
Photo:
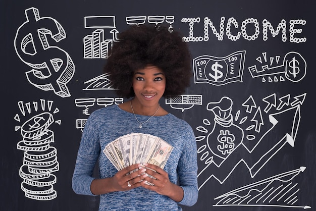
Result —
<instances>
[{"instance_id":1,"label":"woman's hand and wrist on the right, gripping the bills","mask_svg":"<svg viewBox=\"0 0 316 211\"><path fill-rule=\"evenodd\" d=\"M166 195L172 198L173 200L179 202L183 198L183 189L178 185L170 182L169 175L159 166L152 164L143 164L146 168L146 173L150 176L147 176L141 182L141 186L153 190L161 195ZM146 183L149 182L148 183ZM152 184L152 185L150 185Z\"/></svg>"}]
</instances>

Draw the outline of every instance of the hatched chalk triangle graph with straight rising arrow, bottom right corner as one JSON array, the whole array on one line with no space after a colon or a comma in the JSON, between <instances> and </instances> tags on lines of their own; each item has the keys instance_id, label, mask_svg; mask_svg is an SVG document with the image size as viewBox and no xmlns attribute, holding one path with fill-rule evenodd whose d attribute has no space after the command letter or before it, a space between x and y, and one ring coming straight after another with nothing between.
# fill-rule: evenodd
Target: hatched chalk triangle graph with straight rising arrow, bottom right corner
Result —
<instances>
[{"instance_id":1,"label":"hatched chalk triangle graph with straight rising arrow, bottom right corner","mask_svg":"<svg viewBox=\"0 0 316 211\"><path fill-rule=\"evenodd\" d=\"M300 188L298 183L291 182L305 169L305 167L300 167L232 190L216 197L217 202L213 206L272 206L309 209L311 207L308 205L296 205Z\"/></svg>"}]
</instances>

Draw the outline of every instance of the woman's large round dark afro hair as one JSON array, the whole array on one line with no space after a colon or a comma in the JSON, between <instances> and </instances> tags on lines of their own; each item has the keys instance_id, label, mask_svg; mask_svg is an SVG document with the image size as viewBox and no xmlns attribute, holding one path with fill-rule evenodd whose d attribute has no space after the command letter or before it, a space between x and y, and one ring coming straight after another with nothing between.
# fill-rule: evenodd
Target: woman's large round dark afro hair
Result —
<instances>
[{"instance_id":1,"label":"woman's large round dark afro hair","mask_svg":"<svg viewBox=\"0 0 316 211\"><path fill-rule=\"evenodd\" d=\"M191 55L187 43L177 31L165 26L133 26L118 35L103 71L109 73L116 93L121 97L135 96L132 80L134 72L148 65L161 69L166 76L163 96L177 96L185 92L192 76Z\"/></svg>"}]
</instances>

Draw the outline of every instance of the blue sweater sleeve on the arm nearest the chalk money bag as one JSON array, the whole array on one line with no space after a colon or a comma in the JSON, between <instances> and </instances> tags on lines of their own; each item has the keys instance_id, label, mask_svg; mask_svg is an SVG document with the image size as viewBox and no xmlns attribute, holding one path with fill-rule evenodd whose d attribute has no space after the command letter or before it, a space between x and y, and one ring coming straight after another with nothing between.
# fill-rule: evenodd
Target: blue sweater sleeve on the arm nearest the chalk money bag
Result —
<instances>
[{"instance_id":1,"label":"blue sweater sleeve on the arm nearest the chalk money bag","mask_svg":"<svg viewBox=\"0 0 316 211\"><path fill-rule=\"evenodd\" d=\"M197 201L198 189L196 141L191 127L185 139L185 146L183 147L177 170L179 185L184 191L183 199L179 204L192 206Z\"/></svg>"}]
</instances>

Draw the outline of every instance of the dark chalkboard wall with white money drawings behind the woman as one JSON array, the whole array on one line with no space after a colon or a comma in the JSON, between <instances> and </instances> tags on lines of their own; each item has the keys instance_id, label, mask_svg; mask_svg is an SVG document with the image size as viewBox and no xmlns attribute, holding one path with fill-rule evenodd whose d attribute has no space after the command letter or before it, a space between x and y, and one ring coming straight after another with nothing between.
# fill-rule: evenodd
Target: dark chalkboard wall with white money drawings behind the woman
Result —
<instances>
[{"instance_id":1,"label":"dark chalkboard wall with white money drawings behind the woman","mask_svg":"<svg viewBox=\"0 0 316 211\"><path fill-rule=\"evenodd\" d=\"M197 139L199 198L194 206L183 206L183 209L300 210L305 207L312 210L316 206L314 5L312 1L270 0L3 1L0 7L0 80L3 87L3 120L0 127L1 210L97 210L98 197L76 195L71 188L81 129L92 111L104 107L104 103L119 103L123 99L118 98L109 86L103 90L88 87L101 76L102 66L107 60L97 58L97 55L94 55L94 58L87 58L88 45L84 45L83 40L98 29L96 32L103 32L103 38L109 39L111 43L115 39L115 34L126 29L128 23L142 23L141 20L148 22L151 18L161 20L167 26L170 26L168 21L172 21L173 29L180 30L183 36L189 37L191 31L191 37L202 39L188 43L194 59L192 71L196 77L202 76L204 79L192 79L191 86L180 99L171 99L170 103L165 99L161 101L161 105L167 111L186 120L192 126ZM25 13L30 8L38 10L40 21L34 20L33 12ZM33 14L33 20L30 18L30 23L23 25L27 22L26 14L29 18ZM85 22L85 17L90 16L102 16L103 19L87 18ZM135 20L136 16L141 20ZM44 17L46 21L42 20ZM133 21L126 21L127 17ZM215 36L209 25L206 27L208 39L205 40L205 17L212 21L217 32L220 31L221 18L225 18L222 27L223 40ZM190 25L189 18L192 18L192 22L199 18L199 22ZM236 20L238 27L235 28L233 23L228 27L229 19ZM63 27L66 35L57 42L47 34L50 47L46 46L47 48L43 49L38 46L40 43L36 32L40 28L46 28L53 34L57 33L53 20ZM253 20L257 21L257 25L248 23ZM284 20L284 36L282 28L275 37L269 29L267 40L264 40L264 20L269 21L275 31ZM293 29L291 20L294 23ZM236 41L229 39L227 32L236 36L238 32L242 32L243 23L243 34L251 36L255 34L257 27L257 38L250 41L241 35ZM102 24L112 28L101 27ZM94 27L88 27L93 25ZM15 43L19 48L22 42L21 37L15 41L18 29L21 34L24 33L23 36L32 34L34 48L37 50L35 52L33 49L33 56L22 54L25 63L15 50ZM112 29L117 31L111 31ZM44 30L42 33L48 32ZM298 38L299 41L293 41L291 36ZM282 37L286 40L282 40ZM25 51L32 51L30 46L28 44ZM59 48L53 51L52 46ZM104 46L111 47L111 44ZM84 56L85 50L88 56ZM231 55L239 51L243 52L243 56ZM59 76L61 72L53 72L53 76L48 79L33 79L33 85L28 81L25 73L32 70L32 67L27 63L41 64L50 59L60 58L65 65L67 55L75 66L75 72L71 72L72 69L68 66L72 77L65 75L68 77L68 91L63 89L62 93L67 96L61 96L54 90L42 90L45 87L38 88L39 83L50 81L56 91L58 86L51 78ZM206 62L208 67L198 69L198 65L205 65ZM58 67L60 65L58 61L55 64ZM222 66L218 66L219 64ZM226 67L226 64L229 66ZM231 65L234 66L234 70L229 69ZM254 65L257 67L256 75L252 75L255 73L251 72ZM259 71L264 65L267 65L264 72ZM201 72L198 72L199 70ZM216 70L221 71L216 73ZM221 73L229 75L232 72L237 75L236 78L226 80L227 83L222 80ZM47 76L47 72L42 73ZM187 96L189 100L186 100ZM191 98L194 99L190 100ZM222 98L221 103L216 103ZM36 103L37 109L34 107ZM49 103L51 108L48 107ZM192 105L194 106L190 108ZM211 107L214 110L210 110ZM231 111L219 112L219 108L231 108ZM56 148L57 154L50 159L57 158L57 162L50 162L58 164L59 168L54 170L54 167L45 164L46 166L41 167L44 170L41 171L47 172L52 168L49 174L55 175L57 180L48 188L30 187L23 182L20 168L25 165L23 171L28 167L32 169L32 165L25 164L24 160L28 160L29 154L44 154L45 150L35 152L34 148L30 148L40 147L39 144L34 146L38 136L25 136L32 134L31 130L34 128L40 129L39 120L42 120L41 115L44 112L49 113L54 121L48 129L43 128L43 136L40 135L40 138L48 135L47 130L54 134L54 142L48 143L48 147ZM230 124L229 127L215 123L214 119L223 119L229 114L233 120L233 124L225 121ZM36 118L36 115L40 116ZM208 164L210 165L207 166ZM212 175L214 176L210 177ZM32 188L33 192L29 192ZM55 192L57 195L48 200L34 192L47 189L50 191L47 195ZM28 197L30 195L39 195L42 200L31 199Z\"/></svg>"}]
</instances>

